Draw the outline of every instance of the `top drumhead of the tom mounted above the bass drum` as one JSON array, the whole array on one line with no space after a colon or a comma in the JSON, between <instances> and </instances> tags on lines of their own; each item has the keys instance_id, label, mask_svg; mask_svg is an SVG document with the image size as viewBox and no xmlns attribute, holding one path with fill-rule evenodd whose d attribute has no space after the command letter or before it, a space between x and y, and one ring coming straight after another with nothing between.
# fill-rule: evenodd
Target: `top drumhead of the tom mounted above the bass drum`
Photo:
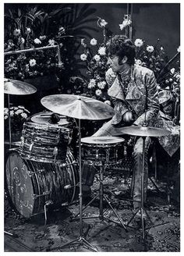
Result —
<instances>
[{"instance_id":1,"label":"top drumhead of the tom mounted above the bass drum","mask_svg":"<svg viewBox=\"0 0 184 256\"><path fill-rule=\"evenodd\" d=\"M30 117L30 120L34 123L43 123L43 124L53 124L51 123L51 115L53 112L39 112ZM65 126L69 124L66 120L65 116L58 115L60 120L58 121L58 125Z\"/></svg>"}]
</instances>

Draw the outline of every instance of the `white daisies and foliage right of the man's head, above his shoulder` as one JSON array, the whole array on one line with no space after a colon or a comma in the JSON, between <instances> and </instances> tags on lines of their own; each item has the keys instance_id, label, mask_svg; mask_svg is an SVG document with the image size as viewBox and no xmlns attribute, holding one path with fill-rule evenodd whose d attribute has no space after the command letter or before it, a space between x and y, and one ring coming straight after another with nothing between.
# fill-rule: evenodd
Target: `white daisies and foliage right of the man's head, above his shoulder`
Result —
<instances>
[{"instance_id":1,"label":"white daisies and foliage right of the man's head, above his shoulder","mask_svg":"<svg viewBox=\"0 0 184 256\"><path fill-rule=\"evenodd\" d=\"M169 60L159 39L154 46L148 45L146 41L140 38L137 38L134 44L136 45L136 64L154 71L159 90L169 90L176 97L179 97L180 67L178 57L180 47L175 56Z\"/></svg>"}]
</instances>

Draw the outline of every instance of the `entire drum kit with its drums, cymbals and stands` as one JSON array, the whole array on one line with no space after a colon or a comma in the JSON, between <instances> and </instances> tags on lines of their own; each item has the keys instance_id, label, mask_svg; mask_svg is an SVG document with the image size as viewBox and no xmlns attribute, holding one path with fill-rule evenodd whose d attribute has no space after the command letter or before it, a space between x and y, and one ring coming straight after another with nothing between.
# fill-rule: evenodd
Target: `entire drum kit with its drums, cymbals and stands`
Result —
<instances>
[{"instance_id":1,"label":"entire drum kit with its drums, cymbals and stands","mask_svg":"<svg viewBox=\"0 0 184 256\"><path fill-rule=\"evenodd\" d=\"M37 89L18 80L4 81L4 91L8 94L34 94ZM100 166L100 219L103 216L103 172L105 165L113 165L121 161L124 139L120 137L86 137L81 138L81 119L102 120L114 116L111 106L80 95L54 94L41 99L41 104L49 112L40 112L24 123L19 150L10 150L6 163L6 180L12 203L18 212L25 217L41 212L49 202L65 205L72 203L79 193L80 200L80 236L69 244L79 242L97 251L83 236L83 194L82 194L82 161ZM53 113L57 114L55 122L51 123ZM78 160L75 161L68 150L72 130L66 116L78 119ZM145 154L145 138L168 135L168 130L147 126L128 126L119 128L119 135L129 134L143 138L143 170ZM11 140L11 116L9 114L9 148ZM69 185L67 185L69 184ZM72 188L65 190L65 187ZM77 190L79 188L79 190ZM142 216L142 231L144 237L143 212L143 172L141 178L141 207L137 210ZM108 202L111 207L111 204ZM119 216L111 207L124 229ZM129 220L132 222L134 216ZM146 212L147 213L147 212ZM68 246L65 244L62 247ZM61 248L61 247L60 247Z\"/></svg>"}]
</instances>

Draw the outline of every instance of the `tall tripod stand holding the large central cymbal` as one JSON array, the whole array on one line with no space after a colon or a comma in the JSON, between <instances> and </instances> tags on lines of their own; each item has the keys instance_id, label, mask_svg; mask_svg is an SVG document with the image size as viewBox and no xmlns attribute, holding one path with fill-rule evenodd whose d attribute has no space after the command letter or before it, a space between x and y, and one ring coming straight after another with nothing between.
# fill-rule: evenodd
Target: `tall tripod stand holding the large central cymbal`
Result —
<instances>
[{"instance_id":1,"label":"tall tripod stand holding the large central cymbal","mask_svg":"<svg viewBox=\"0 0 184 256\"><path fill-rule=\"evenodd\" d=\"M63 247L67 247L71 244L79 243L79 244L84 244L88 248L90 248L92 251L97 251L97 249L90 244L85 237L83 236L83 192L82 192L82 168L81 168L81 127L80 127L80 119L79 119L79 168L80 168L80 236L76 238L75 240L64 244L62 247L59 247L59 249Z\"/></svg>"}]
</instances>

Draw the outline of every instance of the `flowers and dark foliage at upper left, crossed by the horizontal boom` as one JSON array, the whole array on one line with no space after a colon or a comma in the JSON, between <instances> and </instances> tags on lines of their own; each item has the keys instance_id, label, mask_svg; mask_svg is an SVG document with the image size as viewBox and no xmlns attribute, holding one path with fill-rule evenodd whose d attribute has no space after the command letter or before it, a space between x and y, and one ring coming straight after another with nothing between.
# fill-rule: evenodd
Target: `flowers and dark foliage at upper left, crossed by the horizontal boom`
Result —
<instances>
[{"instance_id":1,"label":"flowers and dark foliage at upper left, crossed by the horizontal boom","mask_svg":"<svg viewBox=\"0 0 184 256\"><path fill-rule=\"evenodd\" d=\"M65 34L65 29L59 27L59 37ZM43 48L45 46L53 46L58 44L55 37L48 37L47 35L36 36L34 29L25 27L24 29L15 28L5 38L4 51L12 52L30 48ZM62 44L59 44L62 48ZM5 55L5 76L10 79L24 80L34 76L43 76L44 74L55 73L57 67L56 59L57 51L55 48L48 50L38 50L20 54L7 54ZM60 69L63 65L60 63Z\"/></svg>"}]
</instances>

